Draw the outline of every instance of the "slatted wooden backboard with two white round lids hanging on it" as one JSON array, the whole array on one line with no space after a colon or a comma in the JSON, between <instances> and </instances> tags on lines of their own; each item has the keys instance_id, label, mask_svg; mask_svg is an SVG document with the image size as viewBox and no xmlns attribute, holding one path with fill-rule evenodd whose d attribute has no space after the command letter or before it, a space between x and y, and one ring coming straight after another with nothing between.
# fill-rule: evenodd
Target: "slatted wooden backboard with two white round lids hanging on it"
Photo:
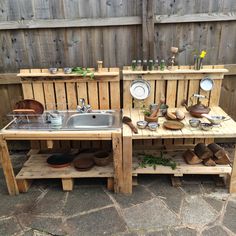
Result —
<instances>
[{"instance_id":1,"label":"slatted wooden backboard with two white round lids hanging on it","mask_svg":"<svg viewBox=\"0 0 236 236\"><path fill-rule=\"evenodd\" d=\"M203 101L205 105L218 106L220 100L220 91L224 73L227 70L224 66L204 66L201 70L193 70L190 66L175 67L174 70L165 71L132 71L130 67L124 67L123 70L123 107L140 108L143 104L149 106L151 103L160 103L161 98L166 99L170 108L181 107L181 102L186 99L189 103L190 97L194 94L202 94L208 98ZM135 101L130 94L130 84L133 80L141 75L151 85L151 94L143 102ZM210 92L203 91L200 88L201 79L209 77L214 81L213 90ZM195 101L196 102L196 99ZM136 141L136 144L152 146L158 145L193 145L198 142L209 143L212 139L167 139L167 140L145 140Z\"/></svg>"}]
</instances>

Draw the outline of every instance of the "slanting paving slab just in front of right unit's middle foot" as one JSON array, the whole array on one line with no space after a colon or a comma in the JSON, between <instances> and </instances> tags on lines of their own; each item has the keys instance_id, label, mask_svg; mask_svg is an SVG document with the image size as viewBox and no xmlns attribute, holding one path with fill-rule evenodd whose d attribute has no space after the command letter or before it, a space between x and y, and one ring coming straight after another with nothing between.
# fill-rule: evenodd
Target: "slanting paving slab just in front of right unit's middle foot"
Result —
<instances>
[{"instance_id":1,"label":"slanting paving slab just in front of right unit's middle foot","mask_svg":"<svg viewBox=\"0 0 236 236\"><path fill-rule=\"evenodd\" d=\"M155 181L149 187L150 191L152 191L156 196L160 197L168 207L179 213L181 202L185 194L180 188L173 187L166 182Z\"/></svg>"}]
</instances>

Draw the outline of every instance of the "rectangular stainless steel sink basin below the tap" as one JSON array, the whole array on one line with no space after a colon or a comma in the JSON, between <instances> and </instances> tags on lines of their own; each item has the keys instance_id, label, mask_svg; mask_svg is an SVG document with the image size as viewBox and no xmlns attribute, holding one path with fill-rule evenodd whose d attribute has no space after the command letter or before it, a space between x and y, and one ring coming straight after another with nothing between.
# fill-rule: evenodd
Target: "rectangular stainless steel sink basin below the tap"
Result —
<instances>
[{"instance_id":1,"label":"rectangular stainless steel sink basin below the tap","mask_svg":"<svg viewBox=\"0 0 236 236\"><path fill-rule=\"evenodd\" d=\"M107 129L115 124L115 116L111 113L82 113L70 116L66 122L68 128L75 129Z\"/></svg>"}]
</instances>

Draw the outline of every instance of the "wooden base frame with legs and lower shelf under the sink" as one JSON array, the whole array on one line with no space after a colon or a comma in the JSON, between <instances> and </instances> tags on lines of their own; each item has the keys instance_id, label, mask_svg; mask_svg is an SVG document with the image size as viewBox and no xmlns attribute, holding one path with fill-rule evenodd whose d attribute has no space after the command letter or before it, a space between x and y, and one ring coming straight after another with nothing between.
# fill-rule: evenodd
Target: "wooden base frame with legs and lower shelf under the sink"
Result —
<instances>
[{"instance_id":1,"label":"wooden base frame with legs and lower shelf under the sink","mask_svg":"<svg viewBox=\"0 0 236 236\"><path fill-rule=\"evenodd\" d=\"M6 127L7 128L7 127ZM17 195L27 192L33 179L61 179L65 191L73 189L75 178L106 177L108 186L113 184L114 191L121 191L122 181L122 137L121 129L114 131L13 131L4 128L0 135L1 163L4 171L8 192ZM80 172L69 166L56 169L47 166L48 155L32 154L15 176L8 151L8 140L111 140L113 164L105 167L94 167L90 171Z\"/></svg>"}]
</instances>

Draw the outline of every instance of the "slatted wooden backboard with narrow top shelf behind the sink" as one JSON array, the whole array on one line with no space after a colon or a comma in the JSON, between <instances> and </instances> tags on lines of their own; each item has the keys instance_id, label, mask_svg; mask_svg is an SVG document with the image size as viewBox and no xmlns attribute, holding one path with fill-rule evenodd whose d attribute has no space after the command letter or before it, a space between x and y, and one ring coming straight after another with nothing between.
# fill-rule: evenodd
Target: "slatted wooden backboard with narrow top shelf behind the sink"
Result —
<instances>
[{"instance_id":1,"label":"slatted wooden backboard with narrow top shelf behind the sink","mask_svg":"<svg viewBox=\"0 0 236 236\"><path fill-rule=\"evenodd\" d=\"M95 72L94 79L89 75L64 74L59 69L57 74L50 74L48 69L20 70L24 98L41 102L46 110L74 110L79 98L84 98L92 109L120 109L119 68L102 68ZM111 147L110 141L54 141L53 147L69 149L90 147ZM45 141L32 141L33 149L47 149Z\"/></svg>"}]
</instances>

